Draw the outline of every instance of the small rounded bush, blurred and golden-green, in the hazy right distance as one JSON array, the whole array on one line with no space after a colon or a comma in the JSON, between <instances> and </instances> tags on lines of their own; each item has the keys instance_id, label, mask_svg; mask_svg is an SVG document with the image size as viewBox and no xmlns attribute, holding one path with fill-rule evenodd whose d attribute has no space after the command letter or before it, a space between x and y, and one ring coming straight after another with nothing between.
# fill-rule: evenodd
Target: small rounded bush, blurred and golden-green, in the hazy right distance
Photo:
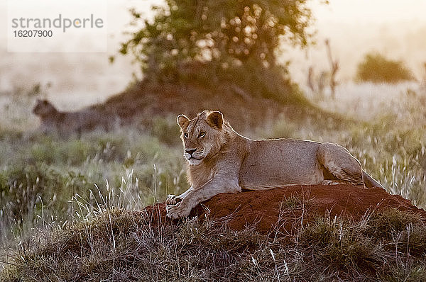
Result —
<instances>
[{"instance_id":1,"label":"small rounded bush, blurred and golden-green, in the hazy right distance","mask_svg":"<svg viewBox=\"0 0 426 282\"><path fill-rule=\"evenodd\" d=\"M388 60L380 54L367 54L358 65L357 79L374 83L397 83L413 80L413 75L403 62Z\"/></svg>"}]
</instances>

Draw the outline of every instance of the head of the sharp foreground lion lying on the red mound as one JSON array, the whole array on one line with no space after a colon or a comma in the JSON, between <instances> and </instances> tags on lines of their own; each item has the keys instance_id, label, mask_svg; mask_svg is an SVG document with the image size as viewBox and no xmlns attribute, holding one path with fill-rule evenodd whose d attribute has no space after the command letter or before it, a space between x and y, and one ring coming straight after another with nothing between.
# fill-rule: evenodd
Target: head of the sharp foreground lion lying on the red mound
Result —
<instances>
[{"instance_id":1,"label":"head of the sharp foreground lion lying on the red mound","mask_svg":"<svg viewBox=\"0 0 426 282\"><path fill-rule=\"evenodd\" d=\"M178 115L178 125L184 156L191 165L214 157L226 143L230 128L219 111L203 111L192 120L186 115Z\"/></svg>"}]
</instances>

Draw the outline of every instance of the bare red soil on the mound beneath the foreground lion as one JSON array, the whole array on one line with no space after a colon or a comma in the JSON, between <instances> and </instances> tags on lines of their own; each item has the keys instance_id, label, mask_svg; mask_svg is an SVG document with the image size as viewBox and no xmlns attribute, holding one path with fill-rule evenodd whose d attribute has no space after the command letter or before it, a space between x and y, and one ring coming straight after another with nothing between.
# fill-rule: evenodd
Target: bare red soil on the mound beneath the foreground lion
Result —
<instances>
[{"instance_id":1,"label":"bare red soil on the mound beneath the foreground lion","mask_svg":"<svg viewBox=\"0 0 426 282\"><path fill-rule=\"evenodd\" d=\"M342 215L359 220L366 213L386 208L417 213L426 220L425 210L416 208L401 196L391 195L382 188L364 189L351 185L297 185L270 191L222 193L197 205L190 217L223 221L233 230L253 226L262 234L290 235L300 222L315 215ZM144 212L153 225L172 223L165 216L164 203L148 206Z\"/></svg>"}]
</instances>

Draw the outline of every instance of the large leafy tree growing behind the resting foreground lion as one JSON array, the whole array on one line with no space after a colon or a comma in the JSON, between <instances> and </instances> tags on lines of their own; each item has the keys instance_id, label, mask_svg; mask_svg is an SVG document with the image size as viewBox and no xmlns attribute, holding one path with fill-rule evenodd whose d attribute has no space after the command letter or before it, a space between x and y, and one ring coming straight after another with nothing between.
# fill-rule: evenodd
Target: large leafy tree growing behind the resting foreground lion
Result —
<instances>
[{"instance_id":1,"label":"large leafy tree growing behind the resting foreground lion","mask_svg":"<svg viewBox=\"0 0 426 282\"><path fill-rule=\"evenodd\" d=\"M210 80L231 77L238 84L247 75L267 72L276 82L277 75L287 74L285 66L276 64L278 46L309 43L311 11L306 3L165 0L165 6L153 7L153 21L131 10L133 24L143 21L143 28L122 44L121 53L131 52L151 79L180 81L204 75ZM235 74L243 69L243 74Z\"/></svg>"}]
</instances>

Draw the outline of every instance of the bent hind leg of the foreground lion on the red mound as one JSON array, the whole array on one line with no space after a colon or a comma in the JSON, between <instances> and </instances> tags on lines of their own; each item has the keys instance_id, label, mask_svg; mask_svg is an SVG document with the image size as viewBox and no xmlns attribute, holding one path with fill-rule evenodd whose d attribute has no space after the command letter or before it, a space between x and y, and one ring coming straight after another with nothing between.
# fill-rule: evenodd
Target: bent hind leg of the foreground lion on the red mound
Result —
<instances>
[{"instance_id":1,"label":"bent hind leg of the foreground lion on the red mound","mask_svg":"<svg viewBox=\"0 0 426 282\"><path fill-rule=\"evenodd\" d=\"M323 143L318 148L317 159L336 178L324 179L323 184L352 184L365 187L361 164L344 147Z\"/></svg>"}]
</instances>

